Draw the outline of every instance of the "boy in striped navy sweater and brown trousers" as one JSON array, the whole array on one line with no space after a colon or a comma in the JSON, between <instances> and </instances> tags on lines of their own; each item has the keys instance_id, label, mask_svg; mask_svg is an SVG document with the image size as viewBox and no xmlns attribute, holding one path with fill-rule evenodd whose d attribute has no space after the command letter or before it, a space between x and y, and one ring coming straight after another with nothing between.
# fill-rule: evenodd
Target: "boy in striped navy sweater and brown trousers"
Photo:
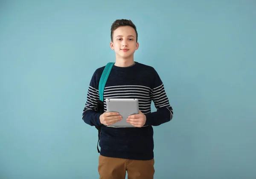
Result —
<instances>
[{"instance_id":1,"label":"boy in striped navy sweater and brown trousers","mask_svg":"<svg viewBox=\"0 0 256 179\"><path fill-rule=\"evenodd\" d=\"M116 20L111 26L110 47L116 53L116 62L104 89L106 98L137 98L140 114L125 119L133 127L113 127L122 116L114 112L96 112L99 101L99 79L104 67L96 69L90 81L87 102L82 114L85 123L102 125L100 134L100 179L153 179L154 141L152 126L172 119L173 111L163 83L157 72L148 65L134 62L139 48L136 26L131 20ZM156 112L151 113L151 100Z\"/></svg>"}]
</instances>

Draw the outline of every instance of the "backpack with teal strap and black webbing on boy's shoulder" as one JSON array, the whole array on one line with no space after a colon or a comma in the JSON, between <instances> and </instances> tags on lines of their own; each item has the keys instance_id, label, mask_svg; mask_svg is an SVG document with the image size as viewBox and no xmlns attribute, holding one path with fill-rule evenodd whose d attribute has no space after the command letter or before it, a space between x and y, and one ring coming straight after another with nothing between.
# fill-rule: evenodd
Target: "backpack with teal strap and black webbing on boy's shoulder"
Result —
<instances>
[{"instance_id":1,"label":"backpack with teal strap and black webbing on boy's shoulder","mask_svg":"<svg viewBox=\"0 0 256 179\"><path fill-rule=\"evenodd\" d=\"M104 93L104 88L105 88L105 84L108 80L108 76L111 72L111 69L113 67L114 63L112 62L109 62L103 72L102 72L102 76L100 77L100 80L99 80L99 102L97 103L97 112L100 113L100 114L103 114L104 113L104 98L103 98L103 93ZM100 134L101 134L101 128L102 128L102 125L99 125L99 126L95 126L96 129L98 129L98 143L97 143L97 150L98 150L98 153L100 153L99 151L99 138L100 138Z\"/></svg>"}]
</instances>

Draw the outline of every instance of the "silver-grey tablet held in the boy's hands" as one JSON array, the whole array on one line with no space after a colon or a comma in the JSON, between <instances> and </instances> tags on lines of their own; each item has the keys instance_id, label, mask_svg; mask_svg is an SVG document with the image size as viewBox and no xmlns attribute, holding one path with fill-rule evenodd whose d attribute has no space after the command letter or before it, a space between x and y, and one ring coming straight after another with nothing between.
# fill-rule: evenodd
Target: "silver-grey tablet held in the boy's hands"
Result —
<instances>
[{"instance_id":1,"label":"silver-grey tablet held in the boy's hands","mask_svg":"<svg viewBox=\"0 0 256 179\"><path fill-rule=\"evenodd\" d=\"M110 126L117 127L134 127L126 122L128 116L139 114L139 100L138 99L106 99L107 112L118 112L122 116L122 120Z\"/></svg>"}]
</instances>

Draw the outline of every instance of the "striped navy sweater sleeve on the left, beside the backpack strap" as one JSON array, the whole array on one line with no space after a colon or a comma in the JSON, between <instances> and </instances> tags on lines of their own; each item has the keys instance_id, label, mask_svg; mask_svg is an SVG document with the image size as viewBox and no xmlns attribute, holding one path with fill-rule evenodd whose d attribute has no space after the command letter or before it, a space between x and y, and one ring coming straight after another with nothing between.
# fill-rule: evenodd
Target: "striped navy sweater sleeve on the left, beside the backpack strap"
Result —
<instances>
[{"instance_id":1,"label":"striped navy sweater sleeve on the left, beside the backpack strap","mask_svg":"<svg viewBox=\"0 0 256 179\"><path fill-rule=\"evenodd\" d=\"M101 115L96 111L97 103L99 102L99 90L97 85L96 71L90 81L90 85L87 91L87 101L82 113L82 119L85 123L91 126L101 125L99 116Z\"/></svg>"}]
</instances>

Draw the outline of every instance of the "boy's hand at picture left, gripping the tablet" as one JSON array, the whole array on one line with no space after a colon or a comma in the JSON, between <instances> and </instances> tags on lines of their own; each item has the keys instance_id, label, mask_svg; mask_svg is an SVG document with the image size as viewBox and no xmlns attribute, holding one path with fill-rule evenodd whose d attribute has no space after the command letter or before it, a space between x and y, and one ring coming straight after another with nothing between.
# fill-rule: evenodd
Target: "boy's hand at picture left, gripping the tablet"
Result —
<instances>
[{"instance_id":1,"label":"boy's hand at picture left, gripping the tablet","mask_svg":"<svg viewBox=\"0 0 256 179\"><path fill-rule=\"evenodd\" d=\"M99 116L100 123L104 125L112 125L121 121L122 116L116 112L105 112Z\"/></svg>"}]
</instances>

